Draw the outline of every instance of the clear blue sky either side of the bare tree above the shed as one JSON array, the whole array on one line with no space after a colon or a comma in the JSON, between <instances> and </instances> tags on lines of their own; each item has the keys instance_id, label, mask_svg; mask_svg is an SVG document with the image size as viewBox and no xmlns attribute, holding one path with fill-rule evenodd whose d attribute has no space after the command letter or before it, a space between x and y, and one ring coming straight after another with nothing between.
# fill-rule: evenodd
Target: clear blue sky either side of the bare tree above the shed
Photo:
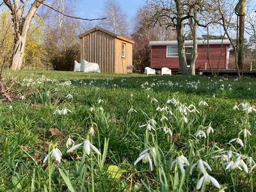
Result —
<instances>
[{"instance_id":1,"label":"clear blue sky either side of the bare tree above the shed","mask_svg":"<svg viewBox=\"0 0 256 192\"><path fill-rule=\"evenodd\" d=\"M122 10L127 14L129 20L132 20L138 9L145 3L144 0L116 0L121 5ZM88 19L98 18L104 9L104 0L80 0L79 13L77 16Z\"/></svg>"}]
</instances>

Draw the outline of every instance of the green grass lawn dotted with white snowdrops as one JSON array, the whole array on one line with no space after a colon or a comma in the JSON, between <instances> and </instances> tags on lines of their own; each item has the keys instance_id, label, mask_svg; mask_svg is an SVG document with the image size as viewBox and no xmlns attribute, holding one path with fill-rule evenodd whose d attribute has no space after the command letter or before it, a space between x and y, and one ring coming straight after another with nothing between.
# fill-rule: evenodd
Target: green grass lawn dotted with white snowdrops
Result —
<instances>
[{"instance_id":1,"label":"green grass lawn dotted with white snowdrops","mask_svg":"<svg viewBox=\"0 0 256 192\"><path fill-rule=\"evenodd\" d=\"M0 191L256 190L256 79L4 71L13 77ZM67 152L68 138L83 144Z\"/></svg>"}]
</instances>

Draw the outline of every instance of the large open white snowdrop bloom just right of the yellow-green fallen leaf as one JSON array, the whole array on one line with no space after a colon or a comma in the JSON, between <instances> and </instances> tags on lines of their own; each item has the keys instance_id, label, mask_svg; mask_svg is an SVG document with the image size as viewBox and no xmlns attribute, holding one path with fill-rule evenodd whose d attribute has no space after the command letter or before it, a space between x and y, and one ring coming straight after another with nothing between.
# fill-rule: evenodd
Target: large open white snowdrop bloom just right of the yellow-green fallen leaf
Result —
<instances>
[{"instance_id":1,"label":"large open white snowdrop bloom just right of the yellow-green fallen leaf","mask_svg":"<svg viewBox=\"0 0 256 192\"><path fill-rule=\"evenodd\" d=\"M138 159L136 159L136 161L134 162L134 166L142 159L143 163L148 163L150 170L153 171L151 157L153 158L154 164L156 165L156 148L154 147L143 150L143 152L139 154Z\"/></svg>"}]
</instances>

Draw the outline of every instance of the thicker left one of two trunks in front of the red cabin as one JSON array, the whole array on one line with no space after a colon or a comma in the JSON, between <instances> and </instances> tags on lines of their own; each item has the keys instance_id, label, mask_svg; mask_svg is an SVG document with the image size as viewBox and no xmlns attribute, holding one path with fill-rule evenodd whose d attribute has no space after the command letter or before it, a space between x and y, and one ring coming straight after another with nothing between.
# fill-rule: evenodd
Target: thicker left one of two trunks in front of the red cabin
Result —
<instances>
[{"instance_id":1,"label":"thicker left one of two trunks in front of the red cabin","mask_svg":"<svg viewBox=\"0 0 256 192\"><path fill-rule=\"evenodd\" d=\"M180 72L182 75L188 74L188 65L186 61L186 52L185 52L185 42L184 42L184 23L182 19L183 15L183 6L179 0L175 0L176 9L177 9L177 42L178 42L178 55L179 55L179 65Z\"/></svg>"}]
</instances>

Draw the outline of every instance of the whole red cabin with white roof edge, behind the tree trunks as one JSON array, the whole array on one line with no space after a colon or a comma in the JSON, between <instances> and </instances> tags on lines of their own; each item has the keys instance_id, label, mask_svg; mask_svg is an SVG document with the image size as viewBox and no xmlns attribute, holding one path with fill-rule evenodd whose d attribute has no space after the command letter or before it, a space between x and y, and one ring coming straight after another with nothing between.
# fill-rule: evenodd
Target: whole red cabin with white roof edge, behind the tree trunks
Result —
<instances>
[{"instance_id":1,"label":"whole red cabin with white roof edge, behind the tree trunks","mask_svg":"<svg viewBox=\"0 0 256 192\"><path fill-rule=\"evenodd\" d=\"M177 41L154 41L150 42L151 47L151 68L161 69L168 67L179 69L179 56ZM185 41L186 58L188 65L191 61L193 41ZM209 40L209 58L212 68L227 69L229 60L230 41L229 40ZM207 40L198 40L198 58L195 63L196 69L209 69L207 60Z\"/></svg>"}]
</instances>

